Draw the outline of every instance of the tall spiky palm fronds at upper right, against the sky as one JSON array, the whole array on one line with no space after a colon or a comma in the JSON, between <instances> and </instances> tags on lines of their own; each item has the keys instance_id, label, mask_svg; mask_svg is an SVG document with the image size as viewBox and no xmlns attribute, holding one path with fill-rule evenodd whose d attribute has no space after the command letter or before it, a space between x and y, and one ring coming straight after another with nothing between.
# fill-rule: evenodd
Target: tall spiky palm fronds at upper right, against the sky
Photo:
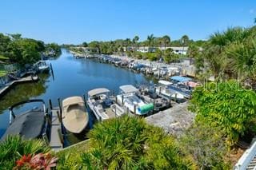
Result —
<instances>
[{"instance_id":1,"label":"tall spiky palm fronds at upper right, against the sky","mask_svg":"<svg viewBox=\"0 0 256 170\"><path fill-rule=\"evenodd\" d=\"M210 69L217 81L238 78L256 87L255 38L255 26L229 28L212 34L202 54L204 70Z\"/></svg>"}]
</instances>

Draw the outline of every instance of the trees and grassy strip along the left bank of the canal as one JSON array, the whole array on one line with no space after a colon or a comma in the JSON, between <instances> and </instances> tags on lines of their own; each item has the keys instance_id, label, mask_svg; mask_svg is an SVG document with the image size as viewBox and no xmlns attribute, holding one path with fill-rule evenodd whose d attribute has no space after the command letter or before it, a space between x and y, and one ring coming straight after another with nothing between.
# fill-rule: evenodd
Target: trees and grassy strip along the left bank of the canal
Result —
<instances>
[{"instance_id":1,"label":"trees and grassy strip along the left bank of the canal","mask_svg":"<svg viewBox=\"0 0 256 170\"><path fill-rule=\"evenodd\" d=\"M24 68L47 57L58 57L61 47L55 43L45 44L21 34L0 33L0 77L6 74L5 65L18 65Z\"/></svg>"}]
</instances>

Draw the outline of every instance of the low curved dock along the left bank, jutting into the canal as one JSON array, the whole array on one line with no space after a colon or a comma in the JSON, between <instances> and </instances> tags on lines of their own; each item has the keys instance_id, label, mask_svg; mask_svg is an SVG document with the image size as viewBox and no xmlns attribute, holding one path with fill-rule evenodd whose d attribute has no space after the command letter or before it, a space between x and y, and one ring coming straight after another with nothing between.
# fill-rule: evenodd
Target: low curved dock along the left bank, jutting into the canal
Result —
<instances>
[{"instance_id":1,"label":"low curved dock along the left bank, jutting into the canal","mask_svg":"<svg viewBox=\"0 0 256 170\"><path fill-rule=\"evenodd\" d=\"M38 81L38 76L28 76L28 77L22 77L18 80L11 81L10 83L7 83L4 87L0 89L0 97L2 97L13 85L31 82L31 81Z\"/></svg>"}]
</instances>

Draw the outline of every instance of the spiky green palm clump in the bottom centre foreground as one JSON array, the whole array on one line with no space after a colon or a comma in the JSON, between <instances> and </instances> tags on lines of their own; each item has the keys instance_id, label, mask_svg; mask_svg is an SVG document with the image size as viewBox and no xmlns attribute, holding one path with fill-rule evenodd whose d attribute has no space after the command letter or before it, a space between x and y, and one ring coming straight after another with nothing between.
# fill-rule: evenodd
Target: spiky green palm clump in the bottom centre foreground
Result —
<instances>
[{"instance_id":1,"label":"spiky green palm clump in the bottom centre foreground","mask_svg":"<svg viewBox=\"0 0 256 170\"><path fill-rule=\"evenodd\" d=\"M172 137L136 117L95 125L89 136L91 150L82 154L88 169L192 168Z\"/></svg>"}]
</instances>

